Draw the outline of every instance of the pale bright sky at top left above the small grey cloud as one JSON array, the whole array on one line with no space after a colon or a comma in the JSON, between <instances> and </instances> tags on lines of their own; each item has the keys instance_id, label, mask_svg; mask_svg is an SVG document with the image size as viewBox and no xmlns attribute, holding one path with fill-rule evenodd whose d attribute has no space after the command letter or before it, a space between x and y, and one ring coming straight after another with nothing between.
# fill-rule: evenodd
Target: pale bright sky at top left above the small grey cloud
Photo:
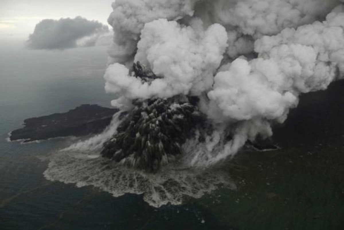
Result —
<instances>
[{"instance_id":1,"label":"pale bright sky at top left above the small grey cloud","mask_svg":"<svg viewBox=\"0 0 344 230\"><path fill-rule=\"evenodd\" d=\"M0 37L25 39L44 19L82 16L107 25L114 0L0 0Z\"/></svg>"}]
</instances>

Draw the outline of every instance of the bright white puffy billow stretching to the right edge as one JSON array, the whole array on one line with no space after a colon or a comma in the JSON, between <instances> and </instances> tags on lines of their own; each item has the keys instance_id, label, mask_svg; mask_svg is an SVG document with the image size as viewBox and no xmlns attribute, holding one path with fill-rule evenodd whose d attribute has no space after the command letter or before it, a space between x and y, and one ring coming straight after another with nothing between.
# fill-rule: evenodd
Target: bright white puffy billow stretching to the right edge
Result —
<instances>
[{"instance_id":1,"label":"bright white puffy billow stretching to the right edge","mask_svg":"<svg viewBox=\"0 0 344 230\"><path fill-rule=\"evenodd\" d=\"M227 71L218 72L209 98L225 117L272 120L295 106L300 93L326 89L338 64L344 63L342 8L336 8L324 22L286 28L276 36L258 39L259 57L236 59Z\"/></svg>"}]
</instances>

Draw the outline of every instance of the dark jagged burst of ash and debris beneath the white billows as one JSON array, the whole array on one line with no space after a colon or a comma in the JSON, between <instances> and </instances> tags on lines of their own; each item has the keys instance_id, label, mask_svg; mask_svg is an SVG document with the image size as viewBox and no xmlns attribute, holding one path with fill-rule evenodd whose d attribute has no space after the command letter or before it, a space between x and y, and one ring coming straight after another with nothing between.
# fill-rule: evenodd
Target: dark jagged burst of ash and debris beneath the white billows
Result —
<instances>
[{"instance_id":1,"label":"dark jagged burst of ash and debris beneath the white billows","mask_svg":"<svg viewBox=\"0 0 344 230\"><path fill-rule=\"evenodd\" d=\"M157 171L181 153L181 145L204 120L187 98L133 101L135 107L105 142L103 157L148 172Z\"/></svg>"}]
</instances>

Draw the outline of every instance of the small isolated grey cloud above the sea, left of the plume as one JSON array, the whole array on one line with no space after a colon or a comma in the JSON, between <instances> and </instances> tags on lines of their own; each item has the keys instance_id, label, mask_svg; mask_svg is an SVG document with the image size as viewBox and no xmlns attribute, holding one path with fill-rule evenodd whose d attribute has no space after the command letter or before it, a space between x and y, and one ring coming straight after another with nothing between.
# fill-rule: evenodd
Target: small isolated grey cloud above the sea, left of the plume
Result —
<instances>
[{"instance_id":1,"label":"small isolated grey cloud above the sea, left of the plume","mask_svg":"<svg viewBox=\"0 0 344 230\"><path fill-rule=\"evenodd\" d=\"M79 46L107 45L108 33L108 26L80 16L74 19L45 19L36 25L26 45L32 49L68 49Z\"/></svg>"}]
</instances>

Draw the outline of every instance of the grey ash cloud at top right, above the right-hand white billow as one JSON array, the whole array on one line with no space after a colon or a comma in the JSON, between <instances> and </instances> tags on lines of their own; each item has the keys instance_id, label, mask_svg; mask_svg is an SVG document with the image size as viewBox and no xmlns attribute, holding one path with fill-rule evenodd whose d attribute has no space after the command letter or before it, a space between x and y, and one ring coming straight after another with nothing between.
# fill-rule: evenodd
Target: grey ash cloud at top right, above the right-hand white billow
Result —
<instances>
[{"instance_id":1,"label":"grey ash cloud at top right, above the right-hand white billow","mask_svg":"<svg viewBox=\"0 0 344 230\"><path fill-rule=\"evenodd\" d=\"M338 5L338 0L203 0L195 7L195 15L204 23L220 23L229 33L229 57L254 51L253 42L264 35L278 34L323 20Z\"/></svg>"}]
</instances>

